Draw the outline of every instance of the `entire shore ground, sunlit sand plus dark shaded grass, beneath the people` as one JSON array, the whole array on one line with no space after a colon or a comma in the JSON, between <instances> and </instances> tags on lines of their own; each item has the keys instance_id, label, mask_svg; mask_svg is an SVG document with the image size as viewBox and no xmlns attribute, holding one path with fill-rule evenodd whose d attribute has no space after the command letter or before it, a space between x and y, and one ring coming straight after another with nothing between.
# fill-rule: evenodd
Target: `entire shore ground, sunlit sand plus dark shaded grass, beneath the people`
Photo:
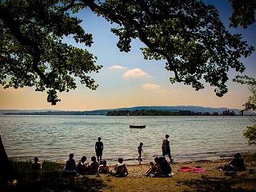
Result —
<instances>
[{"instance_id":1,"label":"entire shore ground, sunlit sand plus dark shaded grass, beneath the people","mask_svg":"<svg viewBox=\"0 0 256 192\"><path fill-rule=\"evenodd\" d=\"M147 178L143 176L150 165L127 166L126 178L115 178L110 174L78 175L62 177L62 164L43 162L42 175L31 178L30 161L13 160L17 170L17 181L2 186L1 191L255 191L256 154L242 154L246 171L226 175L218 169L230 159L171 164L173 175L169 178ZM182 166L200 166L204 173L178 171ZM110 166L114 170L114 166Z\"/></svg>"}]
</instances>

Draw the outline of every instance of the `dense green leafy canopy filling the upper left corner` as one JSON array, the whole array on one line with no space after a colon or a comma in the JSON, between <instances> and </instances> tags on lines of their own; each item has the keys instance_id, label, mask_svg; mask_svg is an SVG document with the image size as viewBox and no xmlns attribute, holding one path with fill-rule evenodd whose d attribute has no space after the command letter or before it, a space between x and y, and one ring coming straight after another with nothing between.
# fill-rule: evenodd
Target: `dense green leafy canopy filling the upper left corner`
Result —
<instances>
[{"instance_id":1,"label":"dense green leafy canopy filling the upper left corner","mask_svg":"<svg viewBox=\"0 0 256 192\"><path fill-rule=\"evenodd\" d=\"M92 90L98 85L88 75L98 72L93 54L62 42L71 36L75 42L91 46L78 18L71 17L60 1L0 2L0 82L14 88L35 86L47 89L48 102L60 101L59 92L76 88L75 77Z\"/></svg>"}]
</instances>

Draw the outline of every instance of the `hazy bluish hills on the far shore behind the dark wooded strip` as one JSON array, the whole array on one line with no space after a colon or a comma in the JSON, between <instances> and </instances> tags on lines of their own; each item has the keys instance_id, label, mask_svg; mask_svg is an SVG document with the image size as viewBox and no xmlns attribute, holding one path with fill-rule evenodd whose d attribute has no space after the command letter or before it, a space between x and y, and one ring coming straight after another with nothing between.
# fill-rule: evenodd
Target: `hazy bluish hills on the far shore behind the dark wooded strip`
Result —
<instances>
[{"instance_id":1,"label":"hazy bluish hills on the far shore behind the dark wooded strip","mask_svg":"<svg viewBox=\"0 0 256 192\"><path fill-rule=\"evenodd\" d=\"M134 107L126 107L126 108L118 108L118 109L106 109L106 110L90 110L90 111L64 111L64 110L0 110L0 114L33 114L33 115L105 115L109 111L114 110L166 110L178 112L180 110L190 110L195 113L210 113L213 114L217 112L218 114L222 114L223 111L230 110L234 111L235 114L239 114L239 109L229 109L226 107L220 108L212 108L212 107L204 107L204 106L134 106ZM252 112L244 112L245 115L252 115Z\"/></svg>"}]
</instances>

